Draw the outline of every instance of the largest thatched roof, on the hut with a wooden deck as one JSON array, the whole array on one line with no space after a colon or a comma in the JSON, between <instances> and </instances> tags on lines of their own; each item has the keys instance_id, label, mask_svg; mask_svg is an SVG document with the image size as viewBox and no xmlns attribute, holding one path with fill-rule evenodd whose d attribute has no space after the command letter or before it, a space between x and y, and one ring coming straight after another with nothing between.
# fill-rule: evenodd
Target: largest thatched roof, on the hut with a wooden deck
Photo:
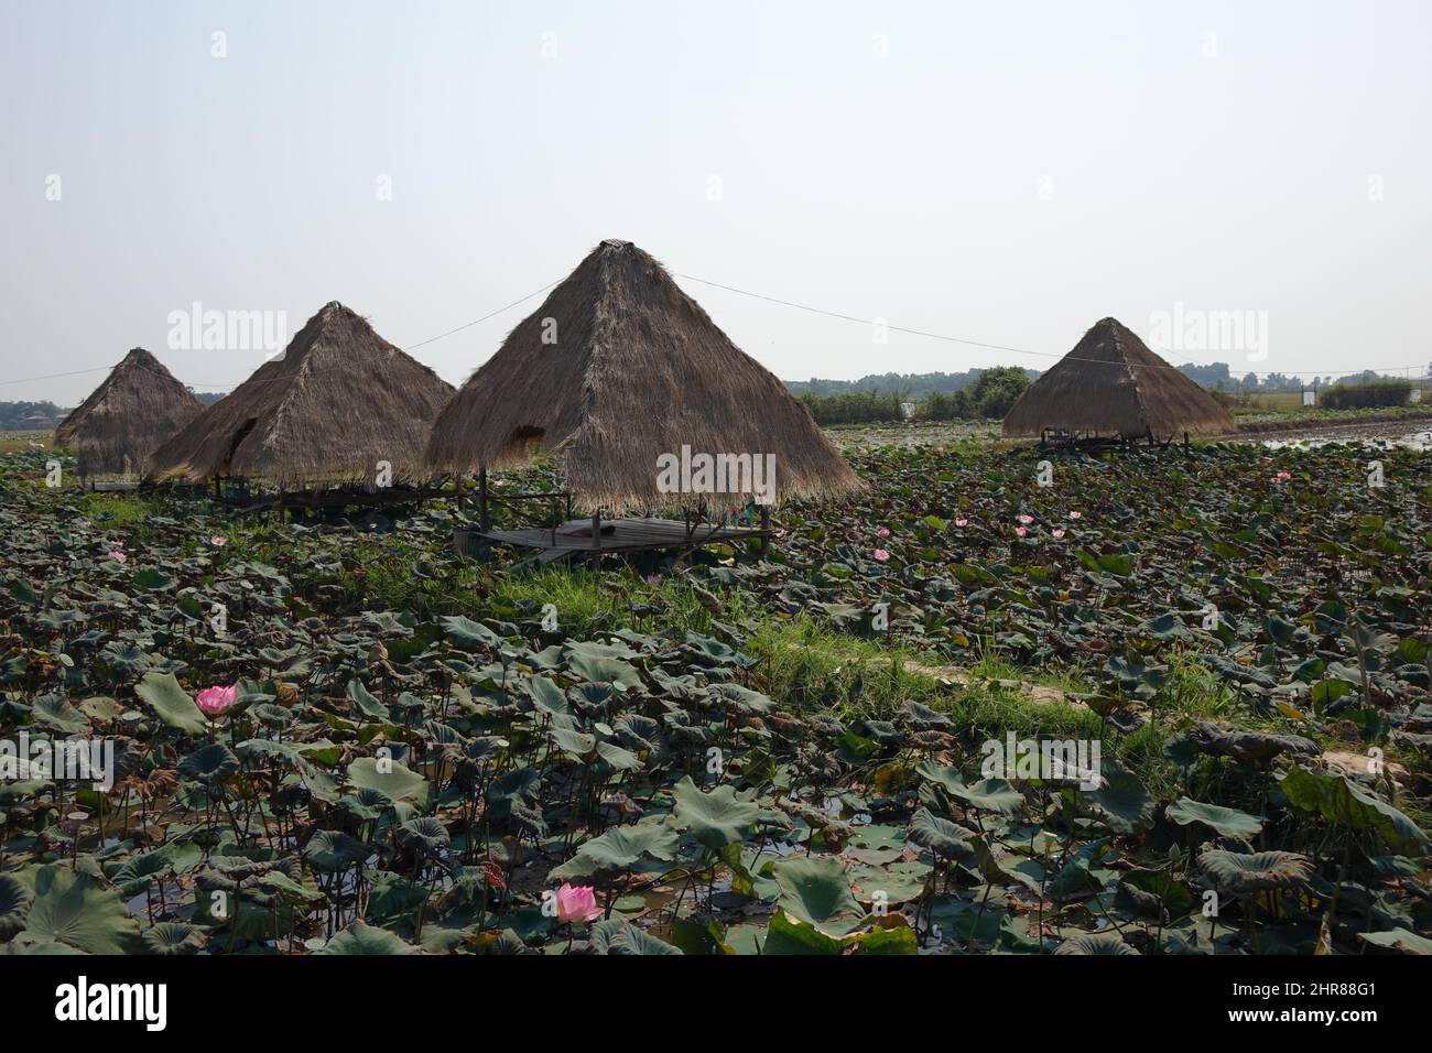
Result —
<instances>
[{"instance_id":1,"label":"largest thatched roof, on the hut with a wooden deck","mask_svg":"<svg viewBox=\"0 0 1432 1053\"><path fill-rule=\"evenodd\" d=\"M468 378L434 424L427 458L465 473L521 461L533 447L561 453L567 487L587 509L746 503L742 493L663 491L657 458L683 447L762 463L773 454L775 500L861 487L785 384L623 241L597 245Z\"/></svg>"}]
</instances>

